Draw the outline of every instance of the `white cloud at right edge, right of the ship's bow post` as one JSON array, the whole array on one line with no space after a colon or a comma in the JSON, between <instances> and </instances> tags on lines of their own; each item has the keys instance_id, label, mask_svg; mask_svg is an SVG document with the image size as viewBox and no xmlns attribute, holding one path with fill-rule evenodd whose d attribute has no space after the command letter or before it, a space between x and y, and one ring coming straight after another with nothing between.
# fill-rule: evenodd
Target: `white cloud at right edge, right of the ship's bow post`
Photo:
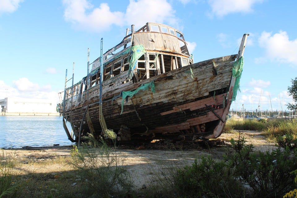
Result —
<instances>
[{"instance_id":1,"label":"white cloud at right edge, right of the ship's bow post","mask_svg":"<svg viewBox=\"0 0 297 198\"><path fill-rule=\"evenodd\" d=\"M271 61L297 64L297 39L289 40L287 32L280 31L274 35L271 32L262 32L259 45L266 50L265 58ZM258 58L258 61L264 58Z\"/></svg>"}]
</instances>

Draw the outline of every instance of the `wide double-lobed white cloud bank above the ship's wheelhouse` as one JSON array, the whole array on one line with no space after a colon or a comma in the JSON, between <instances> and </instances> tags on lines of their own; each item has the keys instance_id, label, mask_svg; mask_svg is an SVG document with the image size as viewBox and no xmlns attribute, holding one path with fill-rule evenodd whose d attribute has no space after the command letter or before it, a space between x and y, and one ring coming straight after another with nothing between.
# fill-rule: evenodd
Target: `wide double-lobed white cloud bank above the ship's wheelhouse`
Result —
<instances>
[{"instance_id":1,"label":"wide double-lobed white cloud bank above the ship's wheelhouse","mask_svg":"<svg viewBox=\"0 0 297 198\"><path fill-rule=\"evenodd\" d=\"M87 28L94 32L104 31L112 25L134 24L136 28L141 28L146 22L177 23L175 11L166 0L130 0L125 13L110 11L107 3L94 8L87 0L63 0L63 4L66 7L65 20L77 29Z\"/></svg>"}]
</instances>

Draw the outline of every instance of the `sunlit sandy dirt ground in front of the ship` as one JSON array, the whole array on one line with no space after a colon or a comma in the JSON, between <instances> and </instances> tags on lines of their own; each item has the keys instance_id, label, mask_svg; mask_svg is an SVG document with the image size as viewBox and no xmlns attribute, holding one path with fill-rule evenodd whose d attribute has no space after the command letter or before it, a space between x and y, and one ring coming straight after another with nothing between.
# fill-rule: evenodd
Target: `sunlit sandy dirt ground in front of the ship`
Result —
<instances>
[{"instance_id":1,"label":"sunlit sandy dirt ground in front of the ship","mask_svg":"<svg viewBox=\"0 0 297 198\"><path fill-rule=\"evenodd\" d=\"M253 144L256 150L271 151L275 149L274 143L266 140L265 136L257 131L242 131L247 140L246 144ZM152 179L154 173L159 170L168 169L170 166L184 166L194 162L202 155L213 155L214 158L221 159L222 154L232 150L230 148L230 139L238 138L239 133L223 133L218 139L223 140L225 145L214 147L193 146L187 149L172 149L170 147L163 149L119 149L119 156L123 157L124 165L130 171L139 187L145 185ZM43 147L27 149L4 149L3 154L13 155L20 162L17 168L25 173L57 173L59 171L71 170L72 167L65 162L54 162L58 157L70 157L71 146L64 147ZM41 163L38 163L41 162Z\"/></svg>"}]
</instances>

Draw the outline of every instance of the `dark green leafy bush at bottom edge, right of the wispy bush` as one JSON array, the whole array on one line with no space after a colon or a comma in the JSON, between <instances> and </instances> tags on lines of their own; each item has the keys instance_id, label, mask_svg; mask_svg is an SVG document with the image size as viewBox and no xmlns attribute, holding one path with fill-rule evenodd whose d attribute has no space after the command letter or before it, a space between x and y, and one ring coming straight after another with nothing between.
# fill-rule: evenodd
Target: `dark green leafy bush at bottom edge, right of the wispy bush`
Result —
<instances>
[{"instance_id":1,"label":"dark green leafy bush at bottom edge, right of the wispy bush","mask_svg":"<svg viewBox=\"0 0 297 198\"><path fill-rule=\"evenodd\" d=\"M176 197L244 197L243 186L233 177L232 168L210 156L178 170L173 182Z\"/></svg>"}]
</instances>

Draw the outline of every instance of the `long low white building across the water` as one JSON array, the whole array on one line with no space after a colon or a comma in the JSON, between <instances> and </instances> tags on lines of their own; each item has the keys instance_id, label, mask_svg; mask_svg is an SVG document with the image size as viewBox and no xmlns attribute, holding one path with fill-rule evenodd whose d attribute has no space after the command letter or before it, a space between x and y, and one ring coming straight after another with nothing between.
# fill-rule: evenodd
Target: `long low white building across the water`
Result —
<instances>
[{"instance_id":1,"label":"long low white building across the water","mask_svg":"<svg viewBox=\"0 0 297 198\"><path fill-rule=\"evenodd\" d=\"M4 113L57 113L56 102L47 99L7 97L0 105Z\"/></svg>"}]
</instances>

